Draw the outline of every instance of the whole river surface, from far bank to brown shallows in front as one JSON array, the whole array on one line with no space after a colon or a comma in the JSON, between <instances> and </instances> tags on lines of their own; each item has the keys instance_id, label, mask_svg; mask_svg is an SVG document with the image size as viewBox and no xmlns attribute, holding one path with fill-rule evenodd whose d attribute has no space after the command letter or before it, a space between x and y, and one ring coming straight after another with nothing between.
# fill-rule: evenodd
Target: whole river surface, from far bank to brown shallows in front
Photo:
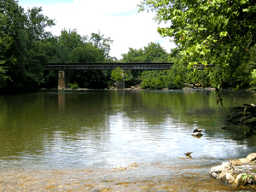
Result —
<instances>
[{"instance_id":1,"label":"whole river surface, from far bank to brown shallows in front","mask_svg":"<svg viewBox=\"0 0 256 192\"><path fill-rule=\"evenodd\" d=\"M221 129L255 96L223 91L224 107L213 90L0 96L0 191L238 190L209 171L255 153L255 135Z\"/></svg>"}]
</instances>

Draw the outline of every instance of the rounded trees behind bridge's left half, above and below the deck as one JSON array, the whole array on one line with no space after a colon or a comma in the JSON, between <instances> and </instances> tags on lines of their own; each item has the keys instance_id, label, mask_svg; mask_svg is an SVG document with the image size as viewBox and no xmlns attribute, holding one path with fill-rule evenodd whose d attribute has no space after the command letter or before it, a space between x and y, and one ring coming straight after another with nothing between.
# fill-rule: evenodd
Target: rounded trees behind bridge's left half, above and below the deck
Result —
<instances>
[{"instance_id":1,"label":"rounded trees behind bridge's left half, above and below the deck","mask_svg":"<svg viewBox=\"0 0 256 192\"><path fill-rule=\"evenodd\" d=\"M53 40L54 52L49 62L53 63L78 63L78 62L110 62L115 58L109 56L110 45L113 41L104 38L99 33L91 33L90 37L81 37L74 30L63 29L60 37ZM57 72L51 71L46 75L46 87L57 85ZM82 88L101 89L112 84L109 71L69 71L67 79L70 87L78 84Z\"/></svg>"}]
</instances>

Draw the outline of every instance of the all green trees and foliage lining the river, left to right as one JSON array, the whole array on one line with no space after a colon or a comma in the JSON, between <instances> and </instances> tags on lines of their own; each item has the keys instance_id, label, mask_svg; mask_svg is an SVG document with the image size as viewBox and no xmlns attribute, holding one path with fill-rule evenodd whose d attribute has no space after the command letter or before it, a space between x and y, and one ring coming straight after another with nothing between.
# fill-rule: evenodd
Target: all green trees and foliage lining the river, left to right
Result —
<instances>
[{"instance_id":1,"label":"all green trees and foliage lining the river, left to right","mask_svg":"<svg viewBox=\"0 0 256 192\"><path fill-rule=\"evenodd\" d=\"M43 15L42 8L25 10L15 0L3 0L0 4L0 10L4 10L0 12L0 93L56 87L58 73L46 72L44 68L48 63L63 62L175 63L170 70L160 71L124 73L119 67L113 71L69 71L68 83L73 88L105 89L122 80L127 87L139 84L141 89L150 90L181 90L188 87L186 84L217 90L253 88L256 84L256 26L252 25L256 9L253 2L219 5L199 1L195 6L181 1L184 8L189 8L189 15L176 1L172 8L168 1L160 2L144 0L139 5L140 11L151 7L157 15L155 20L172 20L172 26L159 28L158 32L163 37L173 38L177 48L166 50L159 43L150 42L141 49L129 48L118 60L109 55L113 40L101 32L81 36L76 29L62 29L60 36L54 36L46 29L55 26L55 20ZM209 16L208 13L213 14ZM216 19L219 17L225 19L219 21ZM184 20L190 20L193 25Z\"/></svg>"}]
</instances>

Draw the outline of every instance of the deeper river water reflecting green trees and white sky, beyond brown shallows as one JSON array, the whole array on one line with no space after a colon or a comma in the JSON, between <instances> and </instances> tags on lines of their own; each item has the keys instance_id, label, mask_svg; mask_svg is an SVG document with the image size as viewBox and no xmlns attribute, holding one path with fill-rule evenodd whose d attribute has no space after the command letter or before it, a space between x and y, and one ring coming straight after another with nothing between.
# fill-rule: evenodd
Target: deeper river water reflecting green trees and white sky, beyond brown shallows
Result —
<instances>
[{"instance_id":1,"label":"deeper river water reflecting green trees and white sky, beyond brown shallows","mask_svg":"<svg viewBox=\"0 0 256 192\"><path fill-rule=\"evenodd\" d=\"M236 102L233 101L236 96ZM213 91L52 91L0 96L3 167L117 167L160 161L244 157L255 136L220 128L231 107L254 96L224 92L224 108ZM231 100L231 101L230 101ZM195 128L204 130L195 138Z\"/></svg>"}]
</instances>

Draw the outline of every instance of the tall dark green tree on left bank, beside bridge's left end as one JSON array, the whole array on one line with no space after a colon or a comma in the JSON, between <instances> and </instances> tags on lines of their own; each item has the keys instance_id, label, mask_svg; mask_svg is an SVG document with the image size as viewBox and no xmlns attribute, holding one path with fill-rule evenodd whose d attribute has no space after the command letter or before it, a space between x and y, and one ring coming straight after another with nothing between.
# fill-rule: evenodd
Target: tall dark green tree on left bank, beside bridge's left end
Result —
<instances>
[{"instance_id":1,"label":"tall dark green tree on left bank, beside bridge's left end","mask_svg":"<svg viewBox=\"0 0 256 192\"><path fill-rule=\"evenodd\" d=\"M5 92L37 89L44 82L47 63L46 47L49 44L44 44L44 39L51 35L44 29L54 25L54 21L42 15L41 8L25 12L14 0L3 0L1 6L4 8L1 30L5 32L2 34L12 40L9 49L1 52L1 58L9 58L3 64L9 79L1 84L1 89Z\"/></svg>"}]
</instances>

